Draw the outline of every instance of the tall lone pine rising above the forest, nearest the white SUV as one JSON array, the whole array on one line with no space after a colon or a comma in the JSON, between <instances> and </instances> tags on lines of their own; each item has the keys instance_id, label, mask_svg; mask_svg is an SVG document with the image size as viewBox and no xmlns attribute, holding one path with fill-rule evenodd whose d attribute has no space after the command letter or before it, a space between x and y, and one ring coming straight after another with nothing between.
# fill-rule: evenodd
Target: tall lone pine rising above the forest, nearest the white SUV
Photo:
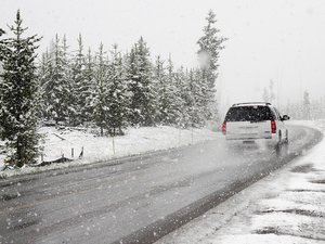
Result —
<instances>
[{"instance_id":1,"label":"tall lone pine rising above the forest, nearest the white SUV","mask_svg":"<svg viewBox=\"0 0 325 244\"><path fill-rule=\"evenodd\" d=\"M202 69L202 89L204 93L203 107L208 110L205 112L206 119L211 118L209 108L214 104L216 99L216 79L218 77L219 52L224 47L222 43L226 38L219 36L220 30L214 27L216 14L210 10L206 17L207 25L204 27L204 36L197 41L199 50L197 54L200 61Z\"/></svg>"}]
</instances>

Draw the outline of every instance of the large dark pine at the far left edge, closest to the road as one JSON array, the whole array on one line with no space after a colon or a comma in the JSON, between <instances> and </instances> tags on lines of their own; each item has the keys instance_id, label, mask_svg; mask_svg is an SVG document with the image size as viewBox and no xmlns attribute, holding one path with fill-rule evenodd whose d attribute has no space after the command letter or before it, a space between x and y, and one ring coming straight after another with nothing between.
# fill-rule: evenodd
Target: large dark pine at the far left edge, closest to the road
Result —
<instances>
[{"instance_id":1,"label":"large dark pine at the far left edge, closest to the road","mask_svg":"<svg viewBox=\"0 0 325 244\"><path fill-rule=\"evenodd\" d=\"M35 35L23 37L20 11L14 25L10 27L12 38L1 39L3 72L0 84L2 139L6 141L5 162L23 167L32 164L39 153L35 98L38 90L36 78L36 44L40 39Z\"/></svg>"}]
</instances>

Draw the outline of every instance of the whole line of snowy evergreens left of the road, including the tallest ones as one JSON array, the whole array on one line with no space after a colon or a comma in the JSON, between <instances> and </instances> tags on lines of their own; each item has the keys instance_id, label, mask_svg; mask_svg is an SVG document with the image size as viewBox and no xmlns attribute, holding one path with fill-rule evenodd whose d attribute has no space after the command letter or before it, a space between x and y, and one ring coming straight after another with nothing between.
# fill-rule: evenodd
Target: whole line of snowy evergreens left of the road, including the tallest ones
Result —
<instances>
[{"instance_id":1,"label":"whole line of snowy evergreens left of the road, including the tallest ones","mask_svg":"<svg viewBox=\"0 0 325 244\"><path fill-rule=\"evenodd\" d=\"M174 67L172 59L152 57L141 37L129 51L77 50L57 35L36 63L37 36L23 37L17 12L14 26L0 29L0 136L8 163L23 166L38 155L40 121L95 125L100 133L122 134L127 126L200 127L218 114L216 79L225 38L210 11L198 40L198 68ZM12 35L13 37L6 37Z\"/></svg>"}]
</instances>

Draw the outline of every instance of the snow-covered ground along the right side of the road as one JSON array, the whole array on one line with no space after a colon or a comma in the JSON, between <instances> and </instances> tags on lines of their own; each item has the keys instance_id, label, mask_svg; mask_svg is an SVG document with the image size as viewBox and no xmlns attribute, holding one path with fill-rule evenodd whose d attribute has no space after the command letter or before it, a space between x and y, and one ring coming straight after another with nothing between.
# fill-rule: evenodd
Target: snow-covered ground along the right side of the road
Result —
<instances>
[{"instance_id":1,"label":"snow-covered ground along the right side of the road","mask_svg":"<svg viewBox=\"0 0 325 244\"><path fill-rule=\"evenodd\" d=\"M157 243L325 243L325 140Z\"/></svg>"}]
</instances>

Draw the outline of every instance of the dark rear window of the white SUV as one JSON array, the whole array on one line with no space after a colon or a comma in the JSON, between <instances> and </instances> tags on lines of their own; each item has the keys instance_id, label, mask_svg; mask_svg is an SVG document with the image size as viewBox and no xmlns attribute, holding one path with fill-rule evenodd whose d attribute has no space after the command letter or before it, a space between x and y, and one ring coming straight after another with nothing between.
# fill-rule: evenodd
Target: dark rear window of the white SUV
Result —
<instances>
[{"instance_id":1,"label":"dark rear window of the white SUV","mask_svg":"<svg viewBox=\"0 0 325 244\"><path fill-rule=\"evenodd\" d=\"M274 116L268 106L234 106L225 115L225 121L264 121Z\"/></svg>"}]
</instances>

